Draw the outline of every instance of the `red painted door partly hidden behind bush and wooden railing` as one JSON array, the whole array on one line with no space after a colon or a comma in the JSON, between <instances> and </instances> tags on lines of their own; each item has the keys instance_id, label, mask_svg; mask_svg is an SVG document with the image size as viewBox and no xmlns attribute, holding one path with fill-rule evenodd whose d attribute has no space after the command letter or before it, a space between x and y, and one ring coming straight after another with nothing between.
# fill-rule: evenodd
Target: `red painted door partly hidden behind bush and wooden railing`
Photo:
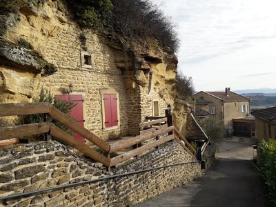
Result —
<instances>
[{"instance_id":1,"label":"red painted door partly hidden behind bush and wooden railing","mask_svg":"<svg viewBox=\"0 0 276 207\"><path fill-rule=\"evenodd\" d=\"M59 99L61 101L72 101L77 103L77 105L71 109L70 117L75 119L80 126L83 126L83 99L82 95L55 95L55 99ZM79 139L79 141L84 141L84 138L81 135L75 134L75 138Z\"/></svg>"}]
</instances>

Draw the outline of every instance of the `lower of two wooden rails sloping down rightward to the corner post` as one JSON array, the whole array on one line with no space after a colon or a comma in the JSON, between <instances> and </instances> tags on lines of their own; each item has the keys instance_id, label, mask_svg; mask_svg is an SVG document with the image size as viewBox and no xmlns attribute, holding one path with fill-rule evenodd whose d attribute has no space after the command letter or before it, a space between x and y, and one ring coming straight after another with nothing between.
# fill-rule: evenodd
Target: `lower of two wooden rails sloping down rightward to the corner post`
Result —
<instances>
[{"instance_id":1,"label":"lower of two wooden rails sloping down rightward to the corner post","mask_svg":"<svg viewBox=\"0 0 276 207\"><path fill-rule=\"evenodd\" d=\"M50 125L50 135L79 150L83 154L88 155L92 159L99 161L101 164L105 166L110 166L110 160L108 160L106 156L101 155L99 152L96 152L95 150L92 150L89 146L75 139L75 137L72 137L67 132L64 132L54 124Z\"/></svg>"}]
</instances>

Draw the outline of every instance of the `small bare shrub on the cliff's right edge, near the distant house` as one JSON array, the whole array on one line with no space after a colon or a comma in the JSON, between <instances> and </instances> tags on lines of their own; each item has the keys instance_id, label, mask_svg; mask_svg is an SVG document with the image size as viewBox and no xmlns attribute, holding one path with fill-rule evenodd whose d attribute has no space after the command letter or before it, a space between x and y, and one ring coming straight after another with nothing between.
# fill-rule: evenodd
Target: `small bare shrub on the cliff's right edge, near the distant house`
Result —
<instances>
[{"instance_id":1,"label":"small bare shrub on the cliff's right edge, near the distant house","mask_svg":"<svg viewBox=\"0 0 276 207\"><path fill-rule=\"evenodd\" d=\"M189 97L191 97L195 92L192 77L187 77L186 75L183 75L182 72L178 72L177 77L175 79L177 81L175 83L177 97L183 100L186 100Z\"/></svg>"}]
</instances>

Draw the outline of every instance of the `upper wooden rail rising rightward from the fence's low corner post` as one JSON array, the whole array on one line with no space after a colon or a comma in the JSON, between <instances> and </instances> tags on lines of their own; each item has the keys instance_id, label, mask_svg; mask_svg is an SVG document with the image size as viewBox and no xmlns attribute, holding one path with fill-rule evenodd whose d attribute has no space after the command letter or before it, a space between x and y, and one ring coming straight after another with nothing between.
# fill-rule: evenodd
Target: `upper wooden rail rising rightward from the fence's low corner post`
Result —
<instances>
[{"instance_id":1,"label":"upper wooden rail rising rightward from the fence's low corner post","mask_svg":"<svg viewBox=\"0 0 276 207\"><path fill-rule=\"evenodd\" d=\"M119 152L119 151L124 150L130 146L133 146L137 143L157 137L158 135L162 135L167 132L172 132L173 130L174 130L174 126L170 126L168 128L161 128L159 130L149 132L146 135L138 135L136 137L132 137L127 140L116 141L115 143L111 144L110 153L111 152Z\"/></svg>"}]
</instances>

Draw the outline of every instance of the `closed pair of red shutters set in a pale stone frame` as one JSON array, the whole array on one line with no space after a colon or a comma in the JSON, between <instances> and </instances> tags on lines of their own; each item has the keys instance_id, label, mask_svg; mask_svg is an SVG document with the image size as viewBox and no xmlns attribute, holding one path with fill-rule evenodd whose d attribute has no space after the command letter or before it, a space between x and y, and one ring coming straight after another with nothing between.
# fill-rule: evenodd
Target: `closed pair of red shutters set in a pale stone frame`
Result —
<instances>
[{"instance_id":1,"label":"closed pair of red shutters set in a pale stone frame","mask_svg":"<svg viewBox=\"0 0 276 207\"><path fill-rule=\"evenodd\" d=\"M106 128L118 126L117 95L104 94L103 101Z\"/></svg>"}]
</instances>

